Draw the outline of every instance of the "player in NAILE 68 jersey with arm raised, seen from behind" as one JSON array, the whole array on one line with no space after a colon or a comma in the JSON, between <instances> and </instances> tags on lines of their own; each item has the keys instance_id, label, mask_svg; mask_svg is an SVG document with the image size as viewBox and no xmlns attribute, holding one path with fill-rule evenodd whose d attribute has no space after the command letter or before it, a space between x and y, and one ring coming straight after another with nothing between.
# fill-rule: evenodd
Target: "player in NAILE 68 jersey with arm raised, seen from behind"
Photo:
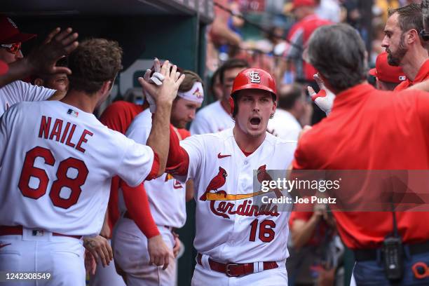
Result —
<instances>
[{"instance_id":1,"label":"player in NAILE 68 jersey with arm raised, seen from behind","mask_svg":"<svg viewBox=\"0 0 429 286\"><path fill-rule=\"evenodd\" d=\"M165 62L148 146L137 144L92 114L109 95L121 56L114 41L83 41L69 56L73 75L61 101L22 102L1 117L0 271L50 274L37 285L85 285L81 237L100 233L111 177L136 186L163 174L165 118L184 76L176 67L169 74Z\"/></svg>"}]
</instances>

